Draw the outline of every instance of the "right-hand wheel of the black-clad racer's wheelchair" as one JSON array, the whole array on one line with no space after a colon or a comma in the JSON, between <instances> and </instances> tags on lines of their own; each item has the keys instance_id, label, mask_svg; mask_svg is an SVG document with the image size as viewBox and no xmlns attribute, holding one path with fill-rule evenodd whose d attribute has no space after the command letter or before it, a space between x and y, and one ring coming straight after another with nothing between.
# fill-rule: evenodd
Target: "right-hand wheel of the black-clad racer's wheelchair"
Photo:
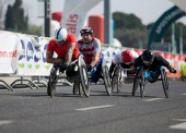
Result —
<instances>
[{"instance_id":1,"label":"right-hand wheel of the black-clad racer's wheelchair","mask_svg":"<svg viewBox=\"0 0 186 133\"><path fill-rule=\"evenodd\" d=\"M161 78L162 78L162 85L163 85L165 97L168 98L168 82L167 82L167 76L166 76L166 72L164 69L161 70Z\"/></svg>"}]
</instances>

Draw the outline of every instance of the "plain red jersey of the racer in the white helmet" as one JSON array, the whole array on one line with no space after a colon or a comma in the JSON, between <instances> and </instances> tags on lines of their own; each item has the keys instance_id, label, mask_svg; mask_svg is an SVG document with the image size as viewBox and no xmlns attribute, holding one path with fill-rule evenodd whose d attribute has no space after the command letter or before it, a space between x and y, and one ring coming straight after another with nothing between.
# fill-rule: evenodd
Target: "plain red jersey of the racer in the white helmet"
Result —
<instances>
[{"instance_id":1,"label":"plain red jersey of the racer in the white helmet","mask_svg":"<svg viewBox=\"0 0 186 133\"><path fill-rule=\"evenodd\" d=\"M66 39L65 44L62 44L61 46L58 46L56 40L51 39L48 43L47 50L50 51L50 52L56 52L58 55L58 58L65 59L68 45L72 44L72 43L75 44L75 47L74 47L73 53L72 53L72 60L75 60L75 59L78 59L78 56L79 56L79 48L78 48L78 45L77 45L75 36L72 35L72 34L67 35L67 39Z\"/></svg>"}]
</instances>

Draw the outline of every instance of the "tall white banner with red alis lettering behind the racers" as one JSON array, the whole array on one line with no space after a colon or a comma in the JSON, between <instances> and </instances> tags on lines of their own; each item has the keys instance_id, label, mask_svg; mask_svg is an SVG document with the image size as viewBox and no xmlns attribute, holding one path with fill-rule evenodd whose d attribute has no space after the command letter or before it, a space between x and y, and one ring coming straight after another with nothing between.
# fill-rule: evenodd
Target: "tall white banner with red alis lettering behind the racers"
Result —
<instances>
[{"instance_id":1,"label":"tall white banner with red alis lettering behind the racers","mask_svg":"<svg viewBox=\"0 0 186 133\"><path fill-rule=\"evenodd\" d=\"M86 13L102 0L66 0L62 13L62 26L68 33L79 38L79 32L83 27Z\"/></svg>"}]
</instances>

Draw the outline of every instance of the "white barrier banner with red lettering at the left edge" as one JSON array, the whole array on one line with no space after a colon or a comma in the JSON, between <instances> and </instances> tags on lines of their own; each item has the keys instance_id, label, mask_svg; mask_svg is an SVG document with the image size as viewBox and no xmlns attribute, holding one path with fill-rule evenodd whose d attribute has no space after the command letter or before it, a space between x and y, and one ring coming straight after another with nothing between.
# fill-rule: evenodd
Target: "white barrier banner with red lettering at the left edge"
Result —
<instances>
[{"instance_id":1,"label":"white barrier banner with red lettering at the left edge","mask_svg":"<svg viewBox=\"0 0 186 133\"><path fill-rule=\"evenodd\" d=\"M18 69L20 41L16 34L0 31L0 73L11 74Z\"/></svg>"}]
</instances>

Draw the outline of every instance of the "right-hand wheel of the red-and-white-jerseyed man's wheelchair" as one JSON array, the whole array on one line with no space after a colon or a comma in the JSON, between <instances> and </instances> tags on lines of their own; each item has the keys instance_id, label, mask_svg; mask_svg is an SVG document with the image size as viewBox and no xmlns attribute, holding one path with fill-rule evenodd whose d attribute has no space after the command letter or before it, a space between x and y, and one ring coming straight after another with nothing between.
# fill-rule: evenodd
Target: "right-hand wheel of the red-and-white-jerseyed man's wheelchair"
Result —
<instances>
[{"instance_id":1,"label":"right-hand wheel of the red-and-white-jerseyed man's wheelchair","mask_svg":"<svg viewBox=\"0 0 186 133\"><path fill-rule=\"evenodd\" d=\"M107 65L104 65L102 68L102 73L103 73L103 80L104 80L106 93L108 96L111 96L112 95L112 83L111 83L111 77L109 77L109 72L108 72Z\"/></svg>"}]
</instances>

